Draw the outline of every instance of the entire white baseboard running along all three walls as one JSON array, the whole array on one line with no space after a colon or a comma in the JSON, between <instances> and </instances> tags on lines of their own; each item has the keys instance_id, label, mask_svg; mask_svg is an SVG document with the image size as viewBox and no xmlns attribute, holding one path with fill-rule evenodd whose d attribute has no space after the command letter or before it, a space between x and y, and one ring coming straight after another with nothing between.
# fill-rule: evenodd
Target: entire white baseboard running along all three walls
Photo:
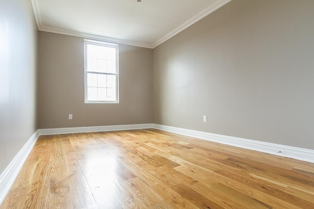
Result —
<instances>
[{"instance_id":1,"label":"entire white baseboard running along all three walls","mask_svg":"<svg viewBox=\"0 0 314 209\"><path fill-rule=\"evenodd\" d=\"M163 131L168 131L184 136L205 139L222 144L228 144L236 147L256 150L264 153L269 153L277 156L288 157L296 160L314 163L314 150L304 149L281 144L268 143L263 141L241 139L236 137L229 137L218 134L211 134L207 132L194 131L183 128L176 128L172 126L165 126L153 123L146 124L131 124L131 125L110 125L110 126L89 126L89 127L73 127L73 128L52 128L52 129L38 129L28 139L26 144L15 156L12 162L0 175L0 204L5 198L7 192L19 174L28 154L34 146L36 140L41 135L55 135L55 134L71 134L71 133L86 133L86 132L99 132L99 131L119 131L119 130L134 130L134 129L147 129L155 128ZM280 153L278 153L280 151Z\"/></svg>"}]
</instances>

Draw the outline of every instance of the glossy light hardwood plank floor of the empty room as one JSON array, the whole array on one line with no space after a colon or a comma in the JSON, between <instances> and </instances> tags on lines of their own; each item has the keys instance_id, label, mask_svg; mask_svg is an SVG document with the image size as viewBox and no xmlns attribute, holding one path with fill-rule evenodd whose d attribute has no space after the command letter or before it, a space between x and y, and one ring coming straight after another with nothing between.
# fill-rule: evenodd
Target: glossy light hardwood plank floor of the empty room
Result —
<instances>
[{"instance_id":1,"label":"glossy light hardwood plank floor of the empty room","mask_svg":"<svg viewBox=\"0 0 314 209\"><path fill-rule=\"evenodd\" d=\"M314 164L155 129L40 137L1 209L314 209Z\"/></svg>"}]
</instances>

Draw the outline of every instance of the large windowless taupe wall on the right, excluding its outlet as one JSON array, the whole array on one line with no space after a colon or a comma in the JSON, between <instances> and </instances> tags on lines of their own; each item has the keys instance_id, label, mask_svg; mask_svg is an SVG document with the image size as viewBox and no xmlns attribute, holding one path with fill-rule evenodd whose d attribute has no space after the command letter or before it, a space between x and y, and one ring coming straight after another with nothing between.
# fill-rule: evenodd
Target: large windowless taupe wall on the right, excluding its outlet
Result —
<instances>
[{"instance_id":1,"label":"large windowless taupe wall on the right, excluding its outlet","mask_svg":"<svg viewBox=\"0 0 314 209\"><path fill-rule=\"evenodd\" d=\"M313 0L232 0L153 64L155 123L314 149Z\"/></svg>"}]
</instances>

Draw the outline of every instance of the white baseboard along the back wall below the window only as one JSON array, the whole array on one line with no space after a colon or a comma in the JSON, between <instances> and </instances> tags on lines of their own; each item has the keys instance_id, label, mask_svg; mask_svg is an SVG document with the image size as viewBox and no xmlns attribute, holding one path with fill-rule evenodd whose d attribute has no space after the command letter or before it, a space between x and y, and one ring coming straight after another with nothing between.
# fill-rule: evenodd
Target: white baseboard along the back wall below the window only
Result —
<instances>
[{"instance_id":1,"label":"white baseboard along the back wall below the window only","mask_svg":"<svg viewBox=\"0 0 314 209\"><path fill-rule=\"evenodd\" d=\"M75 134L99 131L123 131L153 128L152 123L130 124L130 125L108 125L108 126L87 126L87 127L71 127L71 128L48 128L38 129L39 135L55 135L55 134Z\"/></svg>"}]
</instances>

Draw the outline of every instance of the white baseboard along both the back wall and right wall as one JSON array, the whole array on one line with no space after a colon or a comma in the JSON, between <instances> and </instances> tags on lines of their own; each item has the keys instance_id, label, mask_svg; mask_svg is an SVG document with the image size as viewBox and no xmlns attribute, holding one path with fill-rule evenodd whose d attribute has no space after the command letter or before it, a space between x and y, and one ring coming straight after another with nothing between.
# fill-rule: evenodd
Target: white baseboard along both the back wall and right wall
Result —
<instances>
[{"instance_id":1,"label":"white baseboard along both the back wall and right wall","mask_svg":"<svg viewBox=\"0 0 314 209\"><path fill-rule=\"evenodd\" d=\"M72 134L86 133L99 131L122 131L155 128L162 131L168 131L176 134L181 134L188 137L205 139L222 144L228 144L235 147L264 152L272 155L283 156L296 160L314 163L314 150L304 149L299 147L263 142L251 139L242 139L237 137L224 136L219 134L211 134L208 132L194 131L190 129L177 128L172 126L159 125L154 123L146 124L131 124L131 125L109 125L109 126L87 126L73 128L52 128L38 129L39 135L55 135L55 134ZM280 153L278 153L280 151Z\"/></svg>"}]
</instances>

